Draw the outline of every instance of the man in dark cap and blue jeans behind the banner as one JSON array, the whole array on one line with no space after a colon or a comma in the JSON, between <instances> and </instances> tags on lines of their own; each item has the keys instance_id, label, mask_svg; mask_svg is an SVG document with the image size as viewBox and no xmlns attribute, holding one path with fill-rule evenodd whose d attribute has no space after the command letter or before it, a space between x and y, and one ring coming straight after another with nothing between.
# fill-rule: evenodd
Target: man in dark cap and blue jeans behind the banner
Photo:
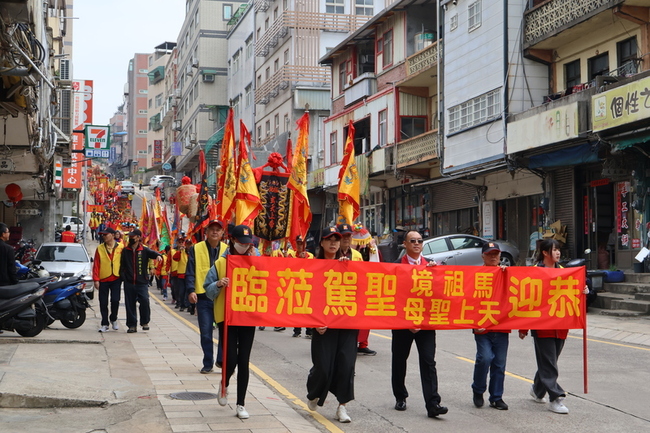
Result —
<instances>
[{"instance_id":1,"label":"man in dark cap and blue jeans behind the banner","mask_svg":"<svg viewBox=\"0 0 650 433\"><path fill-rule=\"evenodd\" d=\"M483 266L499 266L501 249L495 242L488 242L481 250ZM505 270L505 266L501 267ZM506 378L506 358L510 331L487 331L484 328L473 329L476 341L476 362L474 363L474 406L483 407L483 393L488 389L487 375L490 373L490 407L508 410L503 401L503 384Z\"/></svg>"}]
</instances>

